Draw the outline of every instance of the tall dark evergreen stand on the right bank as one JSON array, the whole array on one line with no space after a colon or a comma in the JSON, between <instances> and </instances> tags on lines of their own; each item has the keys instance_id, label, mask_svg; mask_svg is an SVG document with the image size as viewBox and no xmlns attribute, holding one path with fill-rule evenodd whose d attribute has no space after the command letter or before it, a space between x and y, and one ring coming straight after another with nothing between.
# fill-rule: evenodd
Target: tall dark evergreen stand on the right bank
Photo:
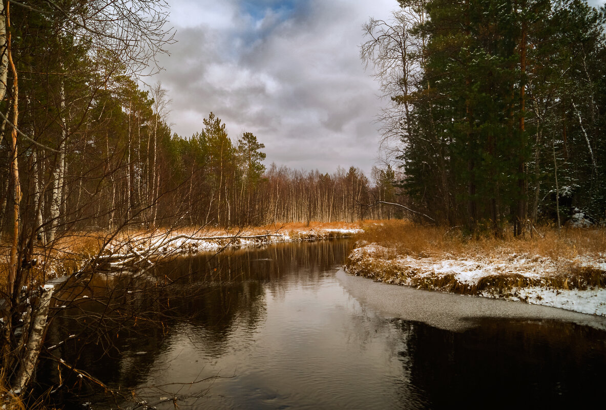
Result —
<instances>
[{"instance_id":1,"label":"tall dark evergreen stand on the right bank","mask_svg":"<svg viewBox=\"0 0 606 410\"><path fill-rule=\"evenodd\" d=\"M361 56L389 99L408 201L440 223L522 234L606 217L605 8L582 0L399 0Z\"/></svg>"}]
</instances>

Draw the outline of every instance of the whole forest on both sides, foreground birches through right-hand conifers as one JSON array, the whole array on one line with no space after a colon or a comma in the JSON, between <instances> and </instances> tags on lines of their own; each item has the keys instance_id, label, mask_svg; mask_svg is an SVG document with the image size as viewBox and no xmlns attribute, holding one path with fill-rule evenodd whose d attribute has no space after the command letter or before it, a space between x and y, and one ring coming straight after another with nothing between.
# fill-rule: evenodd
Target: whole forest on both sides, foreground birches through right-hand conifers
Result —
<instances>
[{"instance_id":1,"label":"whole forest on both sides, foreground birches through right-hand conifers","mask_svg":"<svg viewBox=\"0 0 606 410\"><path fill-rule=\"evenodd\" d=\"M387 101L379 114L387 162L367 176L354 166L330 174L267 165L263 136L228 135L215 112L193 135L174 133L168 91L153 79L175 41L164 1L1 1L0 394L18 398L32 385L54 286L33 268L36 258L58 259L67 237L97 241L96 254L62 249L85 260L88 271L68 275L76 281L98 273L100 260L113 262L107 245L125 232L151 233L151 249L162 245L155 233L185 227L406 217L499 239L559 227L574 213L604 223L606 8L398 2L391 19L364 25L362 64ZM134 245L127 251L154 266ZM87 337L113 343L116 328L146 314L164 332L158 306L172 282L131 282L141 311L99 313L79 349ZM124 302L111 290L95 300L102 310ZM68 367L51 351L47 358Z\"/></svg>"}]
</instances>

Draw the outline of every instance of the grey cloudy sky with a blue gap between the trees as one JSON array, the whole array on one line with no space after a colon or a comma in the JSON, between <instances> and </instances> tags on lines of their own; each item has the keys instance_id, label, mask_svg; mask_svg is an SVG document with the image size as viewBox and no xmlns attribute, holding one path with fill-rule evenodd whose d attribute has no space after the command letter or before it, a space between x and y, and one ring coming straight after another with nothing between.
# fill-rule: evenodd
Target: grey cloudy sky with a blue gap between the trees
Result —
<instances>
[{"instance_id":1,"label":"grey cloudy sky with a blue gap between the trees","mask_svg":"<svg viewBox=\"0 0 606 410\"><path fill-rule=\"evenodd\" d=\"M359 59L362 24L396 0L167 1L178 42L156 78L173 131L189 137L213 111L233 141L250 131L265 144L266 165L370 173L382 102Z\"/></svg>"}]
</instances>

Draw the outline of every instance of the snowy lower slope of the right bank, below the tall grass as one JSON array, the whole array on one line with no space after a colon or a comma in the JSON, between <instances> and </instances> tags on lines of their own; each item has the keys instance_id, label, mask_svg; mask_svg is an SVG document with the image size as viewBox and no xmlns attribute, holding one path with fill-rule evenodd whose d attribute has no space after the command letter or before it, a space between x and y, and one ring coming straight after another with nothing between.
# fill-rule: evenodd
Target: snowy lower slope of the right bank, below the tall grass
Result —
<instances>
[{"instance_id":1,"label":"snowy lower slope of the right bank, below the tall grass","mask_svg":"<svg viewBox=\"0 0 606 410\"><path fill-rule=\"evenodd\" d=\"M356 243L346 270L382 282L606 316L606 254L574 259L495 254L413 257L378 243ZM601 285L602 284L602 285Z\"/></svg>"}]
</instances>

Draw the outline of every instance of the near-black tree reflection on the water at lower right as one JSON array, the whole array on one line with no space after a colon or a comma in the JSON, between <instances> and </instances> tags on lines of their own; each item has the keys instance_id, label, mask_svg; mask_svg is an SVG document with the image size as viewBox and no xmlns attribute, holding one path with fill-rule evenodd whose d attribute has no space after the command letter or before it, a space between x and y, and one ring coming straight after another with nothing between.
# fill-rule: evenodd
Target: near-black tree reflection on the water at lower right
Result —
<instances>
[{"instance_id":1,"label":"near-black tree reflection on the water at lower right","mask_svg":"<svg viewBox=\"0 0 606 410\"><path fill-rule=\"evenodd\" d=\"M398 324L402 366L431 408L562 408L602 396L604 331L554 320L484 319L460 333Z\"/></svg>"}]
</instances>

